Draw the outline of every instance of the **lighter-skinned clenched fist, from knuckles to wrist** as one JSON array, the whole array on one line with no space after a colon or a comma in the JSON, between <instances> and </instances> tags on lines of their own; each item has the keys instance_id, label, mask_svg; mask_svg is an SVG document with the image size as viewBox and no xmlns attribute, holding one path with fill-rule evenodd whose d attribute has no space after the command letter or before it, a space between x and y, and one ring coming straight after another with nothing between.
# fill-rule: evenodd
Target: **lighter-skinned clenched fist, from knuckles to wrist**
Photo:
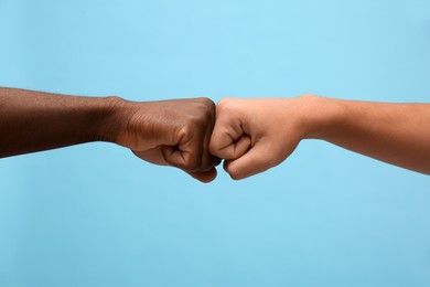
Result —
<instances>
[{"instance_id":1,"label":"lighter-skinned clenched fist, from knuckles to wrist","mask_svg":"<svg viewBox=\"0 0 430 287\"><path fill-rule=\"evenodd\" d=\"M244 179L282 162L305 136L302 98L224 98L216 107L209 150L225 159L233 179Z\"/></svg>"}]
</instances>

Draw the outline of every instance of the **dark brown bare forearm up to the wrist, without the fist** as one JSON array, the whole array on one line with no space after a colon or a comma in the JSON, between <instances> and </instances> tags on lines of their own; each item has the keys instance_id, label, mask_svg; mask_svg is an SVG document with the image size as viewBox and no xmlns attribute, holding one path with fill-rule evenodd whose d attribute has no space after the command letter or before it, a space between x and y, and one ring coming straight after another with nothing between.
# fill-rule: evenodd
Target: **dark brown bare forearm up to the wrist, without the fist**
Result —
<instances>
[{"instance_id":1,"label":"dark brown bare forearm up to the wrist, without the fist","mask_svg":"<svg viewBox=\"0 0 430 287\"><path fill-rule=\"evenodd\" d=\"M0 87L0 157L112 141L116 102Z\"/></svg>"}]
</instances>

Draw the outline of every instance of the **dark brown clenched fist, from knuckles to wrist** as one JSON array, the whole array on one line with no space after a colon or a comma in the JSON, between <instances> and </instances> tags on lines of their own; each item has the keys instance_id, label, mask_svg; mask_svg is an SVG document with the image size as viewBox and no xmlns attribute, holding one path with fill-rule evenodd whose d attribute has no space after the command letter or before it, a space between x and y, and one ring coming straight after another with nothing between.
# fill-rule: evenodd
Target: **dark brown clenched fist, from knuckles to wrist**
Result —
<instances>
[{"instance_id":1,"label":"dark brown clenched fist, from knuckles to wrist","mask_svg":"<svg viewBox=\"0 0 430 287\"><path fill-rule=\"evenodd\" d=\"M215 104L208 98L125 104L117 144L151 163L180 168L202 182L216 178L208 151Z\"/></svg>"}]
</instances>

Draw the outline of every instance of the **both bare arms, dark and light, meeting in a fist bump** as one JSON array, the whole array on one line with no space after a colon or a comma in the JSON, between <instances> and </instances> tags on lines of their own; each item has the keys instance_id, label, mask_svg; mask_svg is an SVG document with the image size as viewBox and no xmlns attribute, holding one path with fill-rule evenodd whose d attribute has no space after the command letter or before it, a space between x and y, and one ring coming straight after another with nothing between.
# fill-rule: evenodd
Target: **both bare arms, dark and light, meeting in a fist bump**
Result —
<instances>
[{"instance_id":1,"label":"both bare arms, dark and light, meeting in a fist bump","mask_svg":"<svg viewBox=\"0 0 430 287\"><path fill-rule=\"evenodd\" d=\"M305 95L130 102L0 87L0 158L92 141L127 147L209 182L215 167L244 179L282 162L302 139L430 174L430 105Z\"/></svg>"}]
</instances>

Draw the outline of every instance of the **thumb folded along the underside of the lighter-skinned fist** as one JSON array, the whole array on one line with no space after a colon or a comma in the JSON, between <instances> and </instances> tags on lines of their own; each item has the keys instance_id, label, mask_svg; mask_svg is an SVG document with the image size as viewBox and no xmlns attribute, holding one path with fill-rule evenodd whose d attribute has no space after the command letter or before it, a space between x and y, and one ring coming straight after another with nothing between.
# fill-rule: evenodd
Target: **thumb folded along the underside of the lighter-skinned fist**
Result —
<instances>
[{"instance_id":1,"label":"thumb folded along the underside of the lighter-skinned fist","mask_svg":"<svg viewBox=\"0 0 430 287\"><path fill-rule=\"evenodd\" d=\"M272 155L270 145L257 142L244 156L234 160L224 161L224 169L228 172L232 179L240 180L250 176L260 173L280 163L275 162L269 155Z\"/></svg>"}]
</instances>

